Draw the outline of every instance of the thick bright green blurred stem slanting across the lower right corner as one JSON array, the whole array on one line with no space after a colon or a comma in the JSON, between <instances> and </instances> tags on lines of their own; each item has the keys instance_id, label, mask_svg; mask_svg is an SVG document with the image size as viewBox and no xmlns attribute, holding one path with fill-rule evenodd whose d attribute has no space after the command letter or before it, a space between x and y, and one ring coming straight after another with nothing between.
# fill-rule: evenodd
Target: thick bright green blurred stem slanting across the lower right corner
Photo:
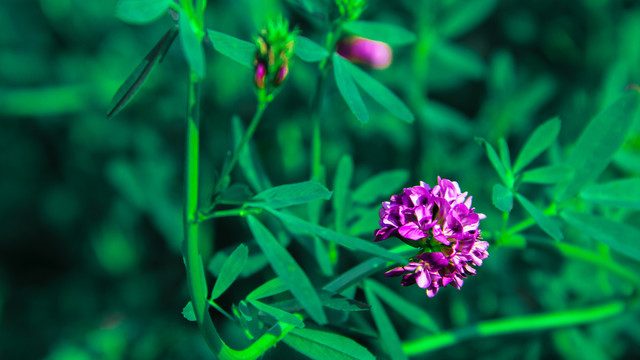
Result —
<instances>
[{"instance_id":1,"label":"thick bright green blurred stem slanting across the lower right corner","mask_svg":"<svg viewBox=\"0 0 640 360\"><path fill-rule=\"evenodd\" d=\"M603 305L583 309L483 321L473 326L407 341L402 344L402 349L408 356L415 356L455 345L468 339L548 330L596 322L616 315L621 315L625 312L626 308L625 302L621 300L614 300Z\"/></svg>"}]
</instances>

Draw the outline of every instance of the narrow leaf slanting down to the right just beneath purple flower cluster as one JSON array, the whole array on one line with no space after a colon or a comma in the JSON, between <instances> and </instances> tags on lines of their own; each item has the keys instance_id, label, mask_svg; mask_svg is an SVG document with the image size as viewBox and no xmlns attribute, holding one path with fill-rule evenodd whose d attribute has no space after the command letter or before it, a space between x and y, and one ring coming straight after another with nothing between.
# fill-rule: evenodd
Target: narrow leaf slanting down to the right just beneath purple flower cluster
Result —
<instances>
[{"instance_id":1,"label":"narrow leaf slanting down to the right just beneath purple flower cluster","mask_svg":"<svg viewBox=\"0 0 640 360\"><path fill-rule=\"evenodd\" d=\"M376 293L382 301L409 322L433 333L440 331L431 315L422 307L416 306L414 303L398 295L395 291L376 281L367 280L367 285L371 287L373 292Z\"/></svg>"}]
</instances>

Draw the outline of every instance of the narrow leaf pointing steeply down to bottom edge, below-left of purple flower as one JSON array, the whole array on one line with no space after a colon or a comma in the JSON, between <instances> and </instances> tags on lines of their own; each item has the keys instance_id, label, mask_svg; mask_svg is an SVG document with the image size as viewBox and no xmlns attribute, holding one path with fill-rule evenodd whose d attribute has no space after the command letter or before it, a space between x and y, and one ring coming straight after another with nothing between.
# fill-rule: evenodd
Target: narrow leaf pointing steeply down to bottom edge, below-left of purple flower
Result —
<instances>
[{"instance_id":1,"label":"narrow leaf pointing steeply down to bottom edge, below-left of purple flower","mask_svg":"<svg viewBox=\"0 0 640 360\"><path fill-rule=\"evenodd\" d=\"M402 350L400 337L393 323L389 320L389 316L384 310L384 307L382 307L380 300L378 300L373 292L370 281L365 282L364 294L367 302L371 305L371 315L373 315L373 321L378 329L379 339L386 348L389 356L394 360L408 359Z\"/></svg>"}]
</instances>

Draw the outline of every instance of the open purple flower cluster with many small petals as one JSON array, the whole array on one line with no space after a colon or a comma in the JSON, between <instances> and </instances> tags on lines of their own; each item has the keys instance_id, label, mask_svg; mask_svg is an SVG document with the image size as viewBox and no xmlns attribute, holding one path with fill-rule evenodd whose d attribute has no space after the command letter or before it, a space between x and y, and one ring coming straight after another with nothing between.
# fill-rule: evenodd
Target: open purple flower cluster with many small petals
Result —
<instances>
[{"instance_id":1,"label":"open purple flower cluster with many small petals","mask_svg":"<svg viewBox=\"0 0 640 360\"><path fill-rule=\"evenodd\" d=\"M476 273L471 265L480 266L489 256L489 243L480 240L478 228L486 216L474 212L471 199L457 182L438 177L433 188L421 181L383 202L375 241L397 237L420 249L407 265L385 276L402 275L403 286L417 284L429 297L448 284L460 289Z\"/></svg>"}]
</instances>

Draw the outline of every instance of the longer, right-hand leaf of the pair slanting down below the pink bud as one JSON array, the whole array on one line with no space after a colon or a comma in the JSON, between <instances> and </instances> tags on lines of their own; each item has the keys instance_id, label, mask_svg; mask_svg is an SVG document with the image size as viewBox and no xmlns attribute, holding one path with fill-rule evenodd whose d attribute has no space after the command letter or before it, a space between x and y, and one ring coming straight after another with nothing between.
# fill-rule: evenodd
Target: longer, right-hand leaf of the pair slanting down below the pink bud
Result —
<instances>
[{"instance_id":1,"label":"longer, right-hand leaf of the pair slanting down below the pink bud","mask_svg":"<svg viewBox=\"0 0 640 360\"><path fill-rule=\"evenodd\" d=\"M380 103L382 107L389 110L390 113L400 119L411 123L415 120L413 113L409 108L394 94L387 89L378 80L371 77L364 70L360 69L351 62L340 58L344 63L344 67L351 74L351 77L360 87L367 92L375 101Z\"/></svg>"}]
</instances>

